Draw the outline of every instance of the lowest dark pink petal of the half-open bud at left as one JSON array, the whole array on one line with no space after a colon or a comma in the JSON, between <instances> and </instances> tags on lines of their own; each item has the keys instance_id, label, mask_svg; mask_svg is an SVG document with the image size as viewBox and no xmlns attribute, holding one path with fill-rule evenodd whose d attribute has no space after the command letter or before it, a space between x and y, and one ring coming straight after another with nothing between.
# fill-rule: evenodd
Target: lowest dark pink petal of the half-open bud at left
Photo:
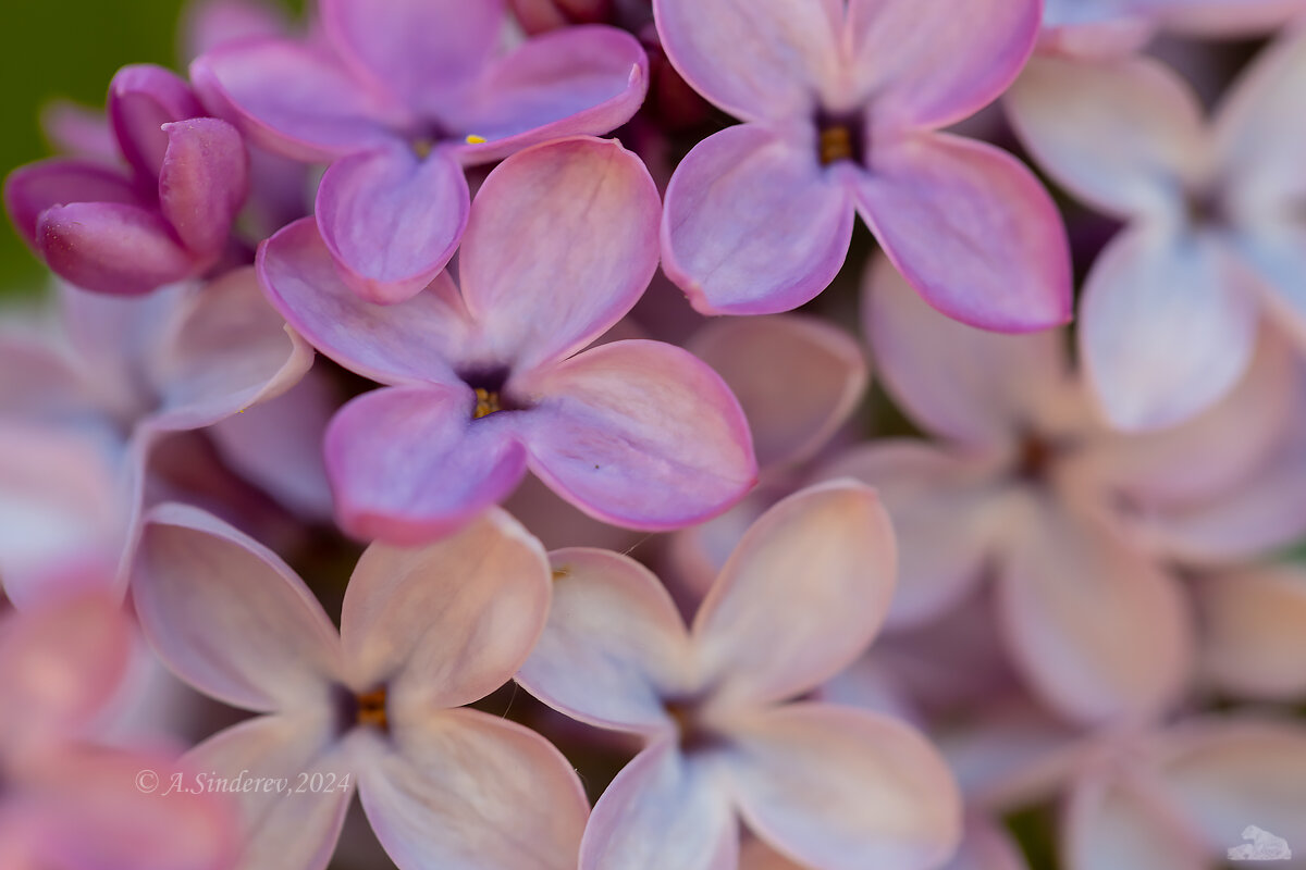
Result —
<instances>
[{"instance_id":1,"label":"lowest dark pink petal of the half-open bud at left","mask_svg":"<svg viewBox=\"0 0 1306 870\"><path fill-rule=\"evenodd\" d=\"M148 293L191 275L196 263L154 211L118 202L47 209L37 249L61 278L102 293Z\"/></svg>"}]
</instances>

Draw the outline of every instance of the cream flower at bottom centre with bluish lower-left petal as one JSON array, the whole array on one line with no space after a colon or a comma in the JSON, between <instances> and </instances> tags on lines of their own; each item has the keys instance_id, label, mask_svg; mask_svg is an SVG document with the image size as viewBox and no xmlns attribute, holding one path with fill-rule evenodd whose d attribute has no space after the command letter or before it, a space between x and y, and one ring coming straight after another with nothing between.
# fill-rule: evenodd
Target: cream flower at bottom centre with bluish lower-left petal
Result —
<instances>
[{"instance_id":1,"label":"cream flower at bottom centre with bluish lower-left petal","mask_svg":"<svg viewBox=\"0 0 1306 870\"><path fill-rule=\"evenodd\" d=\"M768 511L688 631L628 557L551 560L555 604L518 682L646 741L598 800L581 870L734 867L741 817L823 870L932 867L951 854L957 794L916 730L790 700L852 663L887 608L892 530L868 489L829 484Z\"/></svg>"}]
</instances>

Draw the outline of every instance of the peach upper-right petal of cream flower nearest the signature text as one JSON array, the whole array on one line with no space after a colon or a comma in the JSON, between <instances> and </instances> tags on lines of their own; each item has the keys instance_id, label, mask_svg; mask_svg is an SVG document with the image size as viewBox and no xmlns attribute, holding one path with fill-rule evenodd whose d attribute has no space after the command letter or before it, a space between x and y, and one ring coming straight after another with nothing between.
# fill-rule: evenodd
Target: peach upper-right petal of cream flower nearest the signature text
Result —
<instances>
[{"instance_id":1,"label":"peach upper-right petal of cream flower nearest the signature text","mask_svg":"<svg viewBox=\"0 0 1306 870\"><path fill-rule=\"evenodd\" d=\"M435 544L372 544L341 614L351 686L389 683L393 716L479 700L530 655L549 613L543 547L491 509Z\"/></svg>"}]
</instances>

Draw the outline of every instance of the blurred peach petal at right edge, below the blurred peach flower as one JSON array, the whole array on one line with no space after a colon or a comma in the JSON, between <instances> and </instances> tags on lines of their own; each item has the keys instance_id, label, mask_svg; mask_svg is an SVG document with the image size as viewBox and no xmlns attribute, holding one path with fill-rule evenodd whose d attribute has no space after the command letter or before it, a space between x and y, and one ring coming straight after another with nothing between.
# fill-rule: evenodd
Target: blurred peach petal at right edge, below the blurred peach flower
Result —
<instances>
[{"instance_id":1,"label":"blurred peach petal at right edge, below the blurred peach flower","mask_svg":"<svg viewBox=\"0 0 1306 870\"><path fill-rule=\"evenodd\" d=\"M1306 573L1263 565L1196 579L1205 673L1239 698L1306 695Z\"/></svg>"}]
</instances>

